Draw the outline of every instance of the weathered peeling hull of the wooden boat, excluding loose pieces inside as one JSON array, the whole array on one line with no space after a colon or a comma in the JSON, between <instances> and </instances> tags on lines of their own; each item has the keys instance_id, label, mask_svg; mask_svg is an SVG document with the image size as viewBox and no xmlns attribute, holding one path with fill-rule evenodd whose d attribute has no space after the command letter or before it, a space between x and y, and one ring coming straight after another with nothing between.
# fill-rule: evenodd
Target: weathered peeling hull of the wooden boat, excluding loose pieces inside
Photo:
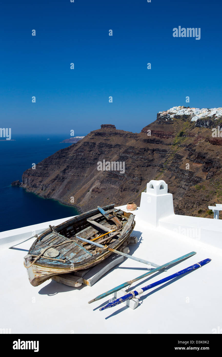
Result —
<instances>
[{"instance_id":1,"label":"weathered peeling hull of the wooden boat, excluding loose pieces inside","mask_svg":"<svg viewBox=\"0 0 222 357\"><path fill-rule=\"evenodd\" d=\"M115 212L117 210L114 209L114 205L109 205L103 207L106 211L112 210L112 212ZM124 242L127 240L127 238L130 236L131 232L133 231L133 228L135 226L135 221L134 221L134 216L131 213L126 213L122 212L123 217L125 218L125 228L124 226L122 227L121 230L119 230L118 235L116 235L115 240L113 239L111 242L109 242L109 247L114 248L115 250L118 250L120 246L124 244ZM117 212L118 214L118 212ZM133 217L130 217L132 215ZM93 216L93 217L92 217ZM87 219L89 217L92 218L97 218L97 220L100 220L103 222L104 228L109 230L109 228L113 228L114 223L112 222L111 225L109 225L108 222L104 222L103 218L100 217L102 216L98 209L83 213L82 215L79 215L77 217L72 218L71 220L68 220L66 222L63 222L61 225L55 227L56 231L58 230L63 230L68 227L76 227L75 234L79 235L82 234L84 235L87 231L92 231L94 234L99 234L100 228L96 227L97 229L92 228L92 226L89 225L87 222ZM122 218L124 220L124 218ZM129 219L130 218L130 219ZM128 224L128 220L130 221L130 224ZM91 222L91 221L90 221ZM97 222L95 222L97 223ZM99 224L100 225L100 224ZM128 227L129 225L129 227ZM85 227L86 226L86 227ZM77 227L80 227L79 229ZM80 230L81 228L82 231ZM117 227L118 228L118 227ZM67 231L68 232L68 231ZM73 231L72 231L73 232ZM73 233L72 233L73 234ZM106 233L108 236L108 233ZM68 233L67 233L68 235ZM71 235L70 235L71 236ZM115 236L115 234L114 234ZM38 286L45 282L46 280L50 279L52 276L59 275L59 274L67 274L71 273L73 271L78 271L78 270L84 270L87 268L91 268L98 263L102 262L104 259L106 259L108 256L112 254L112 252L108 250L96 252L92 248L93 255L90 252L87 252L86 249L83 251L83 247L75 246L73 245L74 243L67 243L67 241L62 240L62 235L60 237L53 235L52 230L49 228L45 232L41 234L40 237L36 239L36 241L32 244L29 254L24 257L24 265L27 268L27 273L29 277L29 281L32 286ZM65 237L64 237L65 238ZM73 238L73 237L72 237ZM111 236L112 238L112 236ZM111 239L110 238L110 239ZM66 238L66 239L70 239ZM96 239L96 238L95 238ZM109 240L109 236L106 238L106 240ZM61 241L61 243L60 243ZM60 256L55 258L54 260L47 260L50 258L46 258L45 256L41 256L36 262L33 263L35 260L35 257L38 256L41 247L45 247L45 244L51 247L56 247L55 242L59 243L62 249L60 249ZM65 243L64 243L65 242ZM64 243L64 244L63 244ZM68 244L68 248L67 247ZM65 246L65 247L64 247ZM60 248L60 247L59 247ZM59 249L57 248L57 249ZM64 260L63 260L64 259ZM62 262L63 260L63 262ZM65 261L65 262L64 262Z\"/></svg>"}]
</instances>

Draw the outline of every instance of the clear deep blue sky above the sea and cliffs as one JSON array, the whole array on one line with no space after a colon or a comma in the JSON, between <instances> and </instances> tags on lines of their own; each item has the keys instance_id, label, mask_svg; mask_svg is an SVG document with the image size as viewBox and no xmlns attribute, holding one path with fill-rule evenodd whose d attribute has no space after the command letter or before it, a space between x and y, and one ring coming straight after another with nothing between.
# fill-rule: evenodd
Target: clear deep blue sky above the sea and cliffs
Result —
<instances>
[{"instance_id":1,"label":"clear deep blue sky above the sea and cliffs","mask_svg":"<svg viewBox=\"0 0 222 357\"><path fill-rule=\"evenodd\" d=\"M219 0L2 1L0 127L140 132L175 105L221 107L221 10ZM178 26L200 27L201 39L174 38Z\"/></svg>"}]
</instances>

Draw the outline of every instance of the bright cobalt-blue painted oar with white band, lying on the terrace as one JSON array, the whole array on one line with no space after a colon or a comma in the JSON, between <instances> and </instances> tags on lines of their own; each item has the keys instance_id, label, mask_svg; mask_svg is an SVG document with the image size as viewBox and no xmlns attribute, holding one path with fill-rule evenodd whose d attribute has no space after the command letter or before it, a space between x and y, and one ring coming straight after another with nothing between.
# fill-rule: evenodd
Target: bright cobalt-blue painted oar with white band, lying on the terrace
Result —
<instances>
[{"instance_id":1,"label":"bright cobalt-blue painted oar with white band, lying on the terrace","mask_svg":"<svg viewBox=\"0 0 222 357\"><path fill-rule=\"evenodd\" d=\"M192 270L195 270L195 269L197 269L197 268L200 268L200 267L202 267L203 265L209 263L210 261L211 261L211 259L210 259L210 258L207 258L207 259L205 259L205 260L202 260L201 262L198 262L198 263L196 263L196 264L191 265L191 266L188 267L188 268L185 268L185 269L183 269L183 270L180 270L180 271L178 271L178 272L175 273L175 274L172 274L172 275L170 275L170 276L167 276L166 278L163 278L163 279L161 279L161 280L159 280L159 281L156 281L155 283L152 283L152 284L150 284L150 285L144 286L143 288L137 288L137 290L131 291L129 294L124 295L124 296L122 296L122 297L119 297L118 299L109 302L107 305L105 305L105 306L103 306L103 307L100 307L99 311L108 309L109 307L116 306L116 305L120 304L121 302L124 302L124 301L126 301L126 300L132 299L133 297L135 297L135 296L137 296L137 295L143 294L144 291L146 291L146 290L149 290L149 289L151 289L151 288L153 288L153 287L155 287L155 286L157 286L157 285L160 285L160 284L162 284L162 283L165 283L166 281L169 281L169 280L171 280L171 279L173 279L173 278L176 278L177 276L180 276L180 275L182 275L182 274L185 274L185 273L187 273L187 272L189 272L189 271L192 271Z\"/></svg>"}]
</instances>

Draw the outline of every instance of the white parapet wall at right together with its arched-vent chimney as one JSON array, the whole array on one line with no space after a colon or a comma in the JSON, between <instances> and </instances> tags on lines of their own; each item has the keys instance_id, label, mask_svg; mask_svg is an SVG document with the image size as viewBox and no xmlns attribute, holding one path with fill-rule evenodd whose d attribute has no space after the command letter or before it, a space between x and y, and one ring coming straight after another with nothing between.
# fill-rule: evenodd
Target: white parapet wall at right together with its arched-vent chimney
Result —
<instances>
[{"instance_id":1,"label":"white parapet wall at right together with its arched-vent chimney","mask_svg":"<svg viewBox=\"0 0 222 357\"><path fill-rule=\"evenodd\" d=\"M222 220L175 215L172 194L167 193L167 184L163 180L148 182L136 216L153 227L172 231L178 237L193 238L222 249Z\"/></svg>"}]
</instances>

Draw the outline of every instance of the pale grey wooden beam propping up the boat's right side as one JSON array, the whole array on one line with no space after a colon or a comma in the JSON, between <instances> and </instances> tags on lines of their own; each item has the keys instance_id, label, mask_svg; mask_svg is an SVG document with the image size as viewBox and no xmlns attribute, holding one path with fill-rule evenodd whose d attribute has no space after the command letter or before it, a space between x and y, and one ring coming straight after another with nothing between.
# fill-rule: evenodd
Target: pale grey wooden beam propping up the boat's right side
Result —
<instances>
[{"instance_id":1,"label":"pale grey wooden beam propping up the boat's right side","mask_svg":"<svg viewBox=\"0 0 222 357\"><path fill-rule=\"evenodd\" d=\"M110 269L119 263L123 262L122 256L111 255L106 258L101 263L94 266L86 275L83 277L83 284L92 286L101 276L107 273Z\"/></svg>"}]
</instances>

